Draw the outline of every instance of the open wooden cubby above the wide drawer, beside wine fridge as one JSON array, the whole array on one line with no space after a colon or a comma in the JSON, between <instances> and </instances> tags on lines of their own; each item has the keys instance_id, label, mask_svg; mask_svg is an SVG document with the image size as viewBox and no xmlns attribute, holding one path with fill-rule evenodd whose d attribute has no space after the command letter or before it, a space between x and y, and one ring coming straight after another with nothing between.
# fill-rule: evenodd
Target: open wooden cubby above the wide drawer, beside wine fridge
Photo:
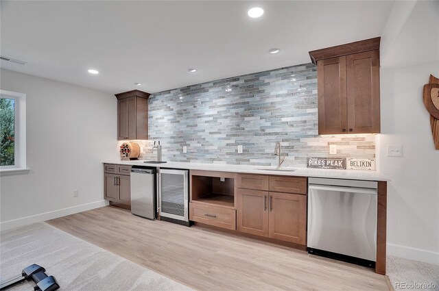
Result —
<instances>
[{"instance_id":1,"label":"open wooden cubby above the wide drawer, beside wine fridge","mask_svg":"<svg viewBox=\"0 0 439 291\"><path fill-rule=\"evenodd\" d=\"M235 174L193 171L191 202L235 208Z\"/></svg>"}]
</instances>

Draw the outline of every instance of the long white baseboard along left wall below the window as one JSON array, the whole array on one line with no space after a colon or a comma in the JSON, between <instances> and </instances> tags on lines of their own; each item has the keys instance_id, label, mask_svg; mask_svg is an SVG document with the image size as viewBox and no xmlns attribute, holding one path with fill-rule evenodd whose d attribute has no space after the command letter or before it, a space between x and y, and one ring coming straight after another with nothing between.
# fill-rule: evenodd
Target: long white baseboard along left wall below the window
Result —
<instances>
[{"instance_id":1,"label":"long white baseboard along left wall below the window","mask_svg":"<svg viewBox=\"0 0 439 291\"><path fill-rule=\"evenodd\" d=\"M0 230L5 231L8 229L12 229L15 227L22 227L24 225L30 225L32 223L39 223L41 221L50 220L54 218L58 218L61 216L66 216L70 214L75 214L78 212L83 212L86 210L92 210L99 207L104 207L108 205L108 202L105 200L99 200L91 203L81 204L81 205L75 205L72 207L63 208L60 210L54 210L50 212L44 212L40 214L35 214L31 216L26 216L22 218L16 218L12 220L3 221L0 223Z\"/></svg>"}]
</instances>

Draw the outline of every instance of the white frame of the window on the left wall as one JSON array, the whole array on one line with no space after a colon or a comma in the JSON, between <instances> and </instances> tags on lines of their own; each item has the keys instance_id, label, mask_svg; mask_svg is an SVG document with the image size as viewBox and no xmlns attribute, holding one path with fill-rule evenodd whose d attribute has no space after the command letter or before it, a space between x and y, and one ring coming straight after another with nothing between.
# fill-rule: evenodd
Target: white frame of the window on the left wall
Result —
<instances>
[{"instance_id":1,"label":"white frame of the window on the left wall","mask_svg":"<svg viewBox=\"0 0 439 291\"><path fill-rule=\"evenodd\" d=\"M1 172L28 170L26 164L26 94L0 90L0 98L14 99L14 165L0 166Z\"/></svg>"}]
</instances>

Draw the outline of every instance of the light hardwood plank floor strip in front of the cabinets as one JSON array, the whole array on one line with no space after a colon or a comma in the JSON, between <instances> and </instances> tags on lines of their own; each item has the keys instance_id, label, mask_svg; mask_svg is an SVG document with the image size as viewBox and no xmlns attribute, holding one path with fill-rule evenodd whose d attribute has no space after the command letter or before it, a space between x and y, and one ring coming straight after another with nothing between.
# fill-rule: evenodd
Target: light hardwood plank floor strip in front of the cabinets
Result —
<instances>
[{"instance_id":1,"label":"light hardwood plank floor strip in front of the cabinets","mask_svg":"<svg viewBox=\"0 0 439 291\"><path fill-rule=\"evenodd\" d=\"M368 268L116 207L47 223L197 290L389 290Z\"/></svg>"}]
</instances>

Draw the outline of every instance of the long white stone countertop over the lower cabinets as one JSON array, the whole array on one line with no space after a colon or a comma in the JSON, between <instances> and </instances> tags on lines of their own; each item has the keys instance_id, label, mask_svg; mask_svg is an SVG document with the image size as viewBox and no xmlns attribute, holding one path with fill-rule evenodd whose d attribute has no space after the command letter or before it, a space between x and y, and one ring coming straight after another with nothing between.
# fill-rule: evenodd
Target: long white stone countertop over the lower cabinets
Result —
<instances>
[{"instance_id":1,"label":"long white stone countertop over the lower cabinets","mask_svg":"<svg viewBox=\"0 0 439 291\"><path fill-rule=\"evenodd\" d=\"M265 174L279 176L299 176L299 177L318 177L333 179L352 179L366 181L390 181L388 177L375 170L328 170L319 168L289 168L294 171L278 171L278 170L260 170L261 168L275 168L270 166L248 166L233 164L205 164L205 163L185 163L185 162L167 162L164 164L149 164L143 160L121 161L112 160L105 161L104 164L120 164L131 166L149 166L156 168L182 168L187 170L216 170L220 172L248 173L248 174Z\"/></svg>"}]
</instances>

